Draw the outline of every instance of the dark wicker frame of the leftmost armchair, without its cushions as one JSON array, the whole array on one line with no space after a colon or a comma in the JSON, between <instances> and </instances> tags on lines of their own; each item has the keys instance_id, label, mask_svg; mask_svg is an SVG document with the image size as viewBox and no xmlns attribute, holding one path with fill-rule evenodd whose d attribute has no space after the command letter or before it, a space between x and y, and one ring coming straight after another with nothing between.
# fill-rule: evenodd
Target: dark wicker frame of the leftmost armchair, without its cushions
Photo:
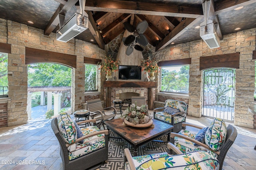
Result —
<instances>
[{"instance_id":1,"label":"dark wicker frame of the leftmost armchair, without its cushions","mask_svg":"<svg viewBox=\"0 0 256 170\"><path fill-rule=\"evenodd\" d=\"M87 123L89 121L95 122L95 120L91 119L91 120L81 121L77 124ZM70 147L70 145L74 146L76 144L74 144L74 143L69 144L64 140L64 137L62 136L62 134L58 128L58 119L57 118L52 119L51 126L52 126L52 130L60 144L60 156L62 158L63 170L95 170L96 168L101 166L101 164L104 161L106 161L108 159L108 137L109 137L109 135L108 135L107 130L95 131L88 135L84 135L84 137L76 139L76 141L74 143L77 143L81 140L88 139L90 137L95 137L95 135L104 134L105 146L100 149L89 152L88 154L84 154L80 157L70 160L70 151L68 150L68 147ZM80 146L80 145L78 145L78 146Z\"/></svg>"}]
</instances>

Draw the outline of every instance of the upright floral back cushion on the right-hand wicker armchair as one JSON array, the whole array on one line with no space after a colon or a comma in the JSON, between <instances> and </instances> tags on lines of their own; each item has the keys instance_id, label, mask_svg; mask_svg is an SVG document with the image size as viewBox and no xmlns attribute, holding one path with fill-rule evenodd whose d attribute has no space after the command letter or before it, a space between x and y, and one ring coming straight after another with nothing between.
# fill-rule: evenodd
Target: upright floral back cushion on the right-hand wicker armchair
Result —
<instances>
[{"instance_id":1,"label":"upright floral back cushion on the right-hand wicker armchair","mask_svg":"<svg viewBox=\"0 0 256 170\"><path fill-rule=\"evenodd\" d=\"M219 150L222 147L227 135L227 126L223 119L215 118L210 123L205 134L205 143L212 150Z\"/></svg>"}]
</instances>

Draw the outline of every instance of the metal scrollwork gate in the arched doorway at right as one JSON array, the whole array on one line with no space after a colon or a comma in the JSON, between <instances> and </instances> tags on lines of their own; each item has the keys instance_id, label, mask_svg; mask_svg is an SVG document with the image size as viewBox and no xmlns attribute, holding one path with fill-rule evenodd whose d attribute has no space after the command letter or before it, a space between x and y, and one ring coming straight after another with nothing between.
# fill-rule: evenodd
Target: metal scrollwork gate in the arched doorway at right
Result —
<instances>
[{"instance_id":1,"label":"metal scrollwork gate in the arched doorway at right","mask_svg":"<svg viewBox=\"0 0 256 170\"><path fill-rule=\"evenodd\" d=\"M204 70L202 115L234 121L235 69Z\"/></svg>"}]
</instances>

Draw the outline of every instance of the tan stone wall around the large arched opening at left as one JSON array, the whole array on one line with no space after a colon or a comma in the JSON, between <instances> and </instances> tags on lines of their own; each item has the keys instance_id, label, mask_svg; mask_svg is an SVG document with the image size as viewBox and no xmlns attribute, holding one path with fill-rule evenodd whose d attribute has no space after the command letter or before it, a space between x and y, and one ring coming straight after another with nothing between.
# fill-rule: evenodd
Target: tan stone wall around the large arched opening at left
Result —
<instances>
[{"instance_id":1,"label":"tan stone wall around the large arched opening at left","mask_svg":"<svg viewBox=\"0 0 256 170\"><path fill-rule=\"evenodd\" d=\"M78 39L67 43L56 41L56 34L44 35L44 30L0 19L0 42L11 44L8 54L8 126L27 123L28 73L25 47L77 55L77 68L72 75L72 111L84 102L84 57L102 58L104 50Z\"/></svg>"}]
</instances>

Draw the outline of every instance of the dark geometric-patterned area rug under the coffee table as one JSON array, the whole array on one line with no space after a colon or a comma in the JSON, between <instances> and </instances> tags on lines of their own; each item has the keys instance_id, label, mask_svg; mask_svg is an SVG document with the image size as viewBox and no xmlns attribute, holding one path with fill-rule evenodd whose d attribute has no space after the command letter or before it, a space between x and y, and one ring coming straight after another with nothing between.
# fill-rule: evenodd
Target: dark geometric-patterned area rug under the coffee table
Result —
<instances>
[{"instance_id":1,"label":"dark geometric-patterned area rug under the coffee table","mask_svg":"<svg viewBox=\"0 0 256 170\"><path fill-rule=\"evenodd\" d=\"M118 137L110 131L110 137ZM142 145L138 149L138 155L167 152L167 135L163 135L157 140ZM124 149L128 148L133 155L132 147L123 139L110 138L108 142L108 160L97 170L124 170Z\"/></svg>"}]
</instances>

